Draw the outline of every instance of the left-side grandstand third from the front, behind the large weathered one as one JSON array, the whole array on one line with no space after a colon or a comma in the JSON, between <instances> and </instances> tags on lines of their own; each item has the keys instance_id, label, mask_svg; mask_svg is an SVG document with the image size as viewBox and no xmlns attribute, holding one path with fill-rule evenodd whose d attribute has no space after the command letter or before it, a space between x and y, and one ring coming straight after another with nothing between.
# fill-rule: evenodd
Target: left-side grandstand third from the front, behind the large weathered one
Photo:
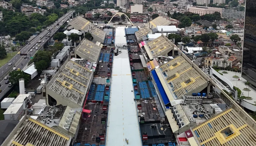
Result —
<instances>
[{"instance_id":1,"label":"left-side grandstand third from the front, behind the large weathered one","mask_svg":"<svg viewBox=\"0 0 256 146\"><path fill-rule=\"evenodd\" d=\"M75 53L80 53L80 57L90 61L97 61L101 53L101 47L91 42L90 40L83 39L81 43L75 48ZM84 56L81 56L84 55Z\"/></svg>"}]
</instances>

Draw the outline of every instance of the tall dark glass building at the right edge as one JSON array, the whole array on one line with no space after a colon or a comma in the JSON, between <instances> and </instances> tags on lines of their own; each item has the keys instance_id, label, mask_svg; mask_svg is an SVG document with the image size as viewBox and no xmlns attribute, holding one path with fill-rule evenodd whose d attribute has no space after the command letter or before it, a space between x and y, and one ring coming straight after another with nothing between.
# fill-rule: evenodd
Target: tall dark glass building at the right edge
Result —
<instances>
[{"instance_id":1,"label":"tall dark glass building at the right edge","mask_svg":"<svg viewBox=\"0 0 256 146\"><path fill-rule=\"evenodd\" d=\"M256 86L256 1L246 0L242 77Z\"/></svg>"}]
</instances>

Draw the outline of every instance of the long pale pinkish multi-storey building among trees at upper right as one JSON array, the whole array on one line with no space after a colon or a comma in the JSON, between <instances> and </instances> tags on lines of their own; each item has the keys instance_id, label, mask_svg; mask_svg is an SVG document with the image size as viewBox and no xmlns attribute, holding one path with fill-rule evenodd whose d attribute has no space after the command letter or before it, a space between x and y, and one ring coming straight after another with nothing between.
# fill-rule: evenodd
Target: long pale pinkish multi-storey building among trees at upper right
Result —
<instances>
[{"instance_id":1,"label":"long pale pinkish multi-storey building among trees at upper right","mask_svg":"<svg viewBox=\"0 0 256 146\"><path fill-rule=\"evenodd\" d=\"M196 6L190 7L189 12L199 14L200 16L205 14L213 14L214 12L219 12L220 14L222 14L222 8Z\"/></svg>"}]
</instances>

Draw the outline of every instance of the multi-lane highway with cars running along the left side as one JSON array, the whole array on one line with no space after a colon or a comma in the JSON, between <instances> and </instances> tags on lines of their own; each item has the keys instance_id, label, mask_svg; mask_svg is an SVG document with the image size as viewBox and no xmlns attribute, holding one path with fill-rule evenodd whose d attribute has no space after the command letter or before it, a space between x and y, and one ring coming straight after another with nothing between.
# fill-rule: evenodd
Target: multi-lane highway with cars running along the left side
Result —
<instances>
[{"instance_id":1,"label":"multi-lane highway with cars running along the left side","mask_svg":"<svg viewBox=\"0 0 256 146\"><path fill-rule=\"evenodd\" d=\"M73 12L74 11L71 11L71 12L68 12L67 14L65 14L64 16L62 16L61 18L59 18L57 20L57 23L59 23L59 26L61 26L63 23L62 20L64 20L64 22L66 22L70 16L73 15ZM57 26L57 23L55 24L52 24L51 26L49 26L50 28L50 31L52 31L51 33L51 37L57 32L57 30L59 29L59 26L58 26L58 29L55 28L55 31L53 31L53 28L55 26ZM14 67L14 64L16 66L16 68L20 68L21 70L26 66L26 64L30 61L30 57L33 57L34 54L36 54L37 50L36 49L32 49L32 47L38 47L38 46L35 46L36 43L41 40L41 43L38 43L40 44L40 47L38 47L38 50L40 50L45 43L48 42L48 40L51 38L51 37L47 37L47 39L45 38L45 36L49 33L49 31L47 29L45 29L43 32L41 32L38 36L36 36L34 39L33 38L30 38L29 41L30 41L30 44L27 44L25 45L21 50L20 50L20 53L21 54L27 54L27 58L23 58L23 56L20 56L20 54L15 54L15 56L9 61L12 62L12 65L8 65L5 64L3 65L1 68L0 68L0 76L2 75L5 75L5 73L7 73L9 70L12 70L12 68ZM40 38L41 37L41 38ZM43 40L44 40L44 43L43 43ZM32 51L30 51L30 49L32 49ZM23 64L23 65L21 65ZM7 75L7 77L9 78L9 76ZM3 80L3 78L1 78L1 87L0 89L2 89L2 92L0 93L0 99L2 99L2 97L5 95L6 92L9 91L10 87L8 87L8 84L5 84L5 82L8 80Z\"/></svg>"}]
</instances>

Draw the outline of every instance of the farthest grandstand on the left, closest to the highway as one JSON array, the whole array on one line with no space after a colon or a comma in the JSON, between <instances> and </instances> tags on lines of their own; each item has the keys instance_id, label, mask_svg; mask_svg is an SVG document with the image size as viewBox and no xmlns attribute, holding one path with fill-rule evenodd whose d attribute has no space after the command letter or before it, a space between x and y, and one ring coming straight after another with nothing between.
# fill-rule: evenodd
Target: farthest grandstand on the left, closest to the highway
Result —
<instances>
[{"instance_id":1,"label":"farthest grandstand on the left, closest to the highway","mask_svg":"<svg viewBox=\"0 0 256 146\"><path fill-rule=\"evenodd\" d=\"M78 16L74 18L72 21L69 21L69 24L74 27L76 30L80 31L89 31L90 26L92 23L86 19L84 19L82 16Z\"/></svg>"}]
</instances>

